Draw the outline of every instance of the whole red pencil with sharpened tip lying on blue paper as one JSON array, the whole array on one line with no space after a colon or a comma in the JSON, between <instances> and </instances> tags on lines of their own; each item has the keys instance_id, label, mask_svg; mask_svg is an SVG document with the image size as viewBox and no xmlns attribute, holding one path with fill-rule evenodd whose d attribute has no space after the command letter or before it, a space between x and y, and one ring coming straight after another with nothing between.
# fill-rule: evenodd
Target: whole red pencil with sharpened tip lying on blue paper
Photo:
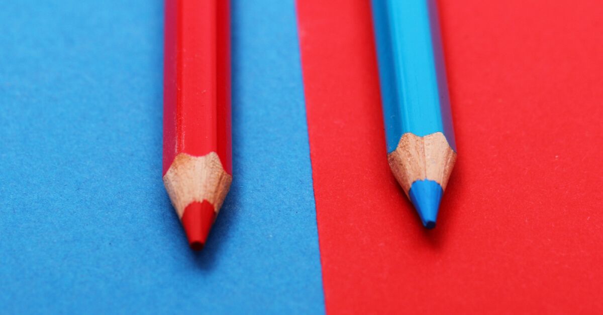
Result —
<instances>
[{"instance_id":1,"label":"whole red pencil with sharpened tip lying on blue paper","mask_svg":"<svg viewBox=\"0 0 603 315\"><path fill-rule=\"evenodd\" d=\"M232 181L227 0L166 0L163 182L192 249Z\"/></svg>"}]
</instances>

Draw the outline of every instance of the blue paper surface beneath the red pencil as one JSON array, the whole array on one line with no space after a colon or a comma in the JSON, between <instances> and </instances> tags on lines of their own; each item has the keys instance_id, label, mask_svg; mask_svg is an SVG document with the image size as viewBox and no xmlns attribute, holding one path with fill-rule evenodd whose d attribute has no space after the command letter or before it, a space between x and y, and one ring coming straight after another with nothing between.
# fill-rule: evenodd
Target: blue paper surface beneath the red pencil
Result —
<instances>
[{"instance_id":1,"label":"blue paper surface beneath the red pencil","mask_svg":"<svg viewBox=\"0 0 603 315\"><path fill-rule=\"evenodd\" d=\"M324 312L294 1L232 1L234 181L200 254L161 180L163 2L1 7L2 312Z\"/></svg>"}]
</instances>

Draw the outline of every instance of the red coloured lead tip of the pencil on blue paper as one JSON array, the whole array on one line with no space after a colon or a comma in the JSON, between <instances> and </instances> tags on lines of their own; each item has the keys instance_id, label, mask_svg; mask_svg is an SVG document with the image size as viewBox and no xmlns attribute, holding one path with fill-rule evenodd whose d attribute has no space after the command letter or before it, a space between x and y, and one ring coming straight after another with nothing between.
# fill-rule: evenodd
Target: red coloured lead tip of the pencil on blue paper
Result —
<instances>
[{"instance_id":1,"label":"red coloured lead tip of the pencil on blue paper","mask_svg":"<svg viewBox=\"0 0 603 315\"><path fill-rule=\"evenodd\" d=\"M191 202L185 208L185 212L182 214L182 225L192 250L203 249L215 216L213 205L207 201Z\"/></svg>"}]
</instances>

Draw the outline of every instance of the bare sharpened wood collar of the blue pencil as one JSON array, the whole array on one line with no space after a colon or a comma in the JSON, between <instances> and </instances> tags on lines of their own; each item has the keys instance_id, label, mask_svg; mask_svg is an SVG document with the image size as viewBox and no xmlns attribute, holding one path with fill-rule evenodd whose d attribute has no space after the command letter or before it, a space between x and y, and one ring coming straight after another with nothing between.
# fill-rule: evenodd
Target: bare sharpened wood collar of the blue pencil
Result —
<instances>
[{"instance_id":1,"label":"bare sharpened wood collar of the blue pencil","mask_svg":"<svg viewBox=\"0 0 603 315\"><path fill-rule=\"evenodd\" d=\"M455 161L456 152L439 132L424 137L405 133L396 150L388 154L391 170L406 195L413 182L423 179L435 181L446 190Z\"/></svg>"}]
</instances>

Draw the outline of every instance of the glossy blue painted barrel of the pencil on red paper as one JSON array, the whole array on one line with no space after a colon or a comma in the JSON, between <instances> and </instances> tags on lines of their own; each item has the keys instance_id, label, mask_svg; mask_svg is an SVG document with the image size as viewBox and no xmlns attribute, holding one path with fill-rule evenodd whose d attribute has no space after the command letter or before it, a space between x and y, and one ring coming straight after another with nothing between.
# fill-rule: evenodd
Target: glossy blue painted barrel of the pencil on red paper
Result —
<instances>
[{"instance_id":1,"label":"glossy blue painted barrel of the pencil on red paper","mask_svg":"<svg viewBox=\"0 0 603 315\"><path fill-rule=\"evenodd\" d=\"M435 0L372 0L388 153L405 133L456 151Z\"/></svg>"}]
</instances>

